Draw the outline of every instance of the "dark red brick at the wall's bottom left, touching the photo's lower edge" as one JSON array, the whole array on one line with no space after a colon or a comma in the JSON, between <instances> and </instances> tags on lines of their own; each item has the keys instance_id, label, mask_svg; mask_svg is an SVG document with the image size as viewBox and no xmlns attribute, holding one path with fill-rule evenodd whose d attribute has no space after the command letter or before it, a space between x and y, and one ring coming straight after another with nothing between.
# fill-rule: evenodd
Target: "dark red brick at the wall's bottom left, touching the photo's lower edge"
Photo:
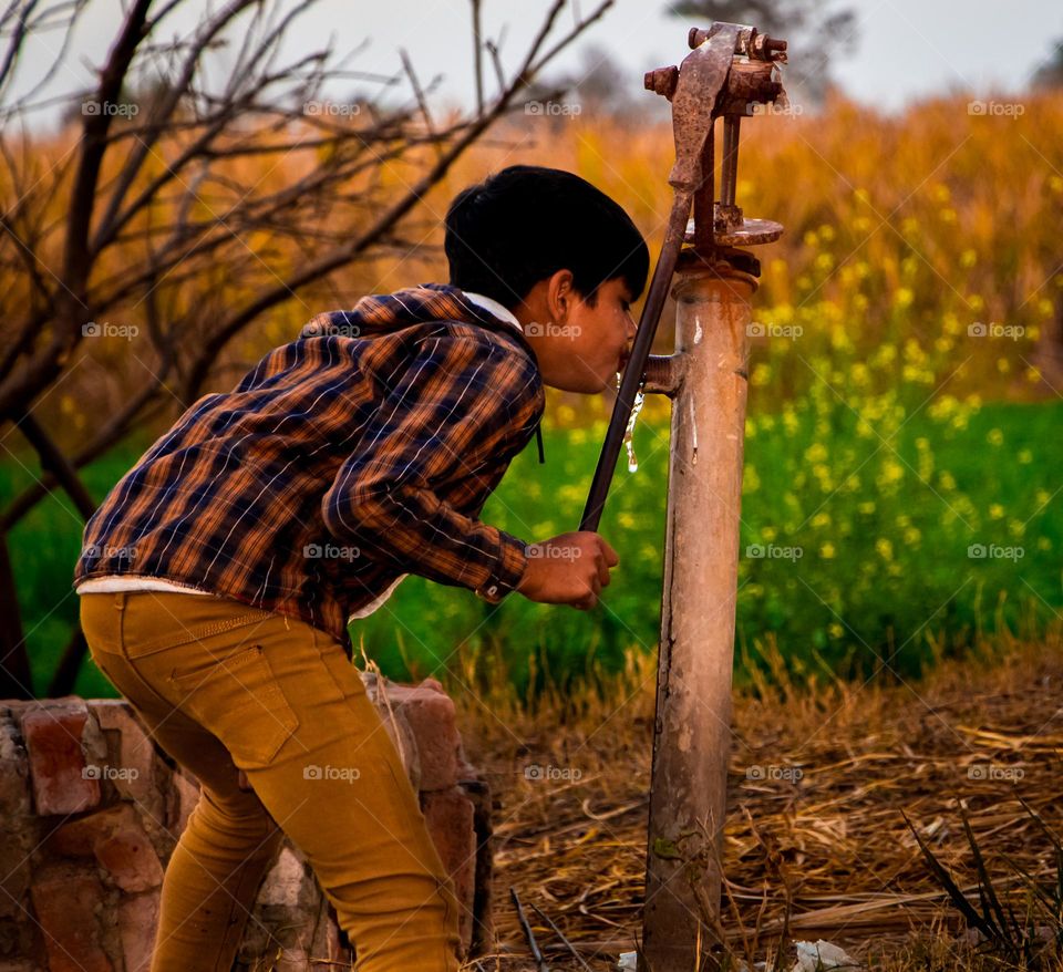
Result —
<instances>
[{"instance_id":1,"label":"dark red brick at the wall's bottom left, touching the photo's lower edge","mask_svg":"<svg viewBox=\"0 0 1063 972\"><path fill-rule=\"evenodd\" d=\"M49 972L114 972L95 916L104 900L99 878L55 870L33 885L30 897L43 929Z\"/></svg>"}]
</instances>

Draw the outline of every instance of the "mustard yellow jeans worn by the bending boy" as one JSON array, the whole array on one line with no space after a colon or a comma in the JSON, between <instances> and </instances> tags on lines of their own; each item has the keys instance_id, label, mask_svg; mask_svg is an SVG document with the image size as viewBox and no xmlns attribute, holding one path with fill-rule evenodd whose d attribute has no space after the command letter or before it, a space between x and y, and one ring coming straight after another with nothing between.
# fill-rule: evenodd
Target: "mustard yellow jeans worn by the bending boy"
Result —
<instances>
[{"instance_id":1,"label":"mustard yellow jeans worn by the bending boy","mask_svg":"<svg viewBox=\"0 0 1063 972\"><path fill-rule=\"evenodd\" d=\"M81 623L95 663L200 784L166 868L151 972L229 972L285 834L358 972L458 969L453 885L339 642L229 598L169 591L85 593Z\"/></svg>"}]
</instances>

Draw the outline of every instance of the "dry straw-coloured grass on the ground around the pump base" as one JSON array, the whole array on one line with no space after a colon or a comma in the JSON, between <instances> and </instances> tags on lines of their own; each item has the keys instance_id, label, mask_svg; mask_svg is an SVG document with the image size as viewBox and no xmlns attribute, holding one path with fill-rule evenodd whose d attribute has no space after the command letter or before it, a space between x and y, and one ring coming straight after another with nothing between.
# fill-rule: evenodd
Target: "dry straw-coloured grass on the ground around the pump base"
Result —
<instances>
[{"instance_id":1,"label":"dry straw-coloured grass on the ground around the pump base","mask_svg":"<svg viewBox=\"0 0 1063 972\"><path fill-rule=\"evenodd\" d=\"M973 891L976 875L957 800L998 890L1018 893L1021 883L1001 855L1054 877L1051 845L1018 796L1063 829L1060 633L1043 644L999 644L942 662L918 683L853 684L826 674L796 685L771 652L767 659L778 680L756 680L734 706L724 924L736 952L764 959L788 911L789 938L822 937L877 968L992 964L967 943L901 811L966 891ZM627 671L599 693L555 693L530 707L509 697L500 681L476 697L452 689L471 755L488 769L497 805L500 947L478 968L535 968L510 886L553 968L584 966L566 955L533 904L591 969L612 968L619 951L633 949L652 666L632 654ZM532 765L544 767L539 778L528 778Z\"/></svg>"}]
</instances>

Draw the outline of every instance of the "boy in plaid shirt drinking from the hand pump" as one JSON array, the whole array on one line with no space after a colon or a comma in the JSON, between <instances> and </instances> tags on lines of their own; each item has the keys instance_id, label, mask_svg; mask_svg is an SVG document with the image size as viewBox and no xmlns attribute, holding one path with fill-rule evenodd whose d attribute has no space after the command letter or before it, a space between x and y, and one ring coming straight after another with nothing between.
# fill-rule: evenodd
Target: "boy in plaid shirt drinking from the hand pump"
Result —
<instances>
[{"instance_id":1,"label":"boy in plaid shirt drinking from the hand pump","mask_svg":"<svg viewBox=\"0 0 1063 972\"><path fill-rule=\"evenodd\" d=\"M320 314L199 399L85 527L93 660L202 788L152 972L230 968L282 834L360 972L458 968L453 887L347 624L407 573L492 603L597 603L618 563L598 534L529 546L477 514L543 386L595 394L623 366L649 254L609 197L530 166L461 193L445 250L450 285Z\"/></svg>"}]
</instances>

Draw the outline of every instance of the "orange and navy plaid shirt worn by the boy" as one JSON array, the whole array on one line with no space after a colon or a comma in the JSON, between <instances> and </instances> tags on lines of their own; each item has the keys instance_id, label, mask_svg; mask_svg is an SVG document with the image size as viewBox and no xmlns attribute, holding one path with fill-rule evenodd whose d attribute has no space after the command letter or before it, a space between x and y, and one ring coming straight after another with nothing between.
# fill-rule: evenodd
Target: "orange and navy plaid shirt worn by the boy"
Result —
<instances>
[{"instance_id":1,"label":"orange and navy plaid shirt worn by the boy","mask_svg":"<svg viewBox=\"0 0 1063 972\"><path fill-rule=\"evenodd\" d=\"M319 314L193 404L85 526L74 587L163 578L328 631L406 573L497 602L524 540L477 518L537 431L527 340L457 288Z\"/></svg>"}]
</instances>

